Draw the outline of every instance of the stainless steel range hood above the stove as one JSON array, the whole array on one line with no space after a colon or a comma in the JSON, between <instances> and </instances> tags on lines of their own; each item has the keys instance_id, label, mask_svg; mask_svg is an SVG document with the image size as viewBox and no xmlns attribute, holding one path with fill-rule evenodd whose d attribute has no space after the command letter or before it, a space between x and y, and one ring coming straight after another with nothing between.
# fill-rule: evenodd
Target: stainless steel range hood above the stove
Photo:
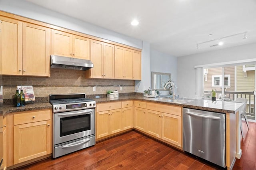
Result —
<instances>
[{"instance_id":1,"label":"stainless steel range hood above the stove","mask_svg":"<svg viewBox=\"0 0 256 170\"><path fill-rule=\"evenodd\" d=\"M93 67L92 61L88 59L78 59L51 55L51 68L88 70Z\"/></svg>"}]
</instances>

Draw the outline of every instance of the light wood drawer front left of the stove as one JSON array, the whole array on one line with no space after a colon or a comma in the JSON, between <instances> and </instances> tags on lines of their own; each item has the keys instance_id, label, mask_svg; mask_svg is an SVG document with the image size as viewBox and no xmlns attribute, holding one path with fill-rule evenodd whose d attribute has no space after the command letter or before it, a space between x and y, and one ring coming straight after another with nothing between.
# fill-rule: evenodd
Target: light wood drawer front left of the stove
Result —
<instances>
[{"instance_id":1,"label":"light wood drawer front left of the stove","mask_svg":"<svg viewBox=\"0 0 256 170\"><path fill-rule=\"evenodd\" d=\"M26 111L14 115L14 125L46 121L51 119L51 109L40 111Z\"/></svg>"}]
</instances>

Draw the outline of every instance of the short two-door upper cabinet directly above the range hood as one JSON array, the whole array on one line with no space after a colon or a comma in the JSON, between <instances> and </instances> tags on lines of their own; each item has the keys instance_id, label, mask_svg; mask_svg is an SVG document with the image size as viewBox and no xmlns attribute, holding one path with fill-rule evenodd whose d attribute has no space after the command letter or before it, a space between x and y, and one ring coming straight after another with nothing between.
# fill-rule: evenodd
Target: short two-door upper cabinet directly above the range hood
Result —
<instances>
[{"instance_id":1,"label":"short two-door upper cabinet directly above the range hood","mask_svg":"<svg viewBox=\"0 0 256 170\"><path fill-rule=\"evenodd\" d=\"M90 39L52 30L52 55L90 59Z\"/></svg>"}]
</instances>

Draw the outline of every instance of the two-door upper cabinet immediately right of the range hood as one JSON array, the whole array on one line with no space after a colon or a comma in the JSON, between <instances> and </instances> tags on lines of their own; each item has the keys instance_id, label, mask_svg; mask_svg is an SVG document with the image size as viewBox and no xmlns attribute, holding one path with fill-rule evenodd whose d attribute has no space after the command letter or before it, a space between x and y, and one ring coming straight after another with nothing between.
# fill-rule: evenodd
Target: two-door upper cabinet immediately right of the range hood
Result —
<instances>
[{"instance_id":1,"label":"two-door upper cabinet immediately right of the range hood","mask_svg":"<svg viewBox=\"0 0 256 170\"><path fill-rule=\"evenodd\" d=\"M86 71L87 78L114 79L114 45L91 40L93 68Z\"/></svg>"}]
</instances>

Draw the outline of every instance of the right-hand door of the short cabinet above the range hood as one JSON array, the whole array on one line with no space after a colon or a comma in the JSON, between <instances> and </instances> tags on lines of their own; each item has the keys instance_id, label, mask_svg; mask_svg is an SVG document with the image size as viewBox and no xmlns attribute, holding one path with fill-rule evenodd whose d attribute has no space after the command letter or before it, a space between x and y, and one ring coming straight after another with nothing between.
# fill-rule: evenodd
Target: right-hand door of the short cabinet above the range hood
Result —
<instances>
[{"instance_id":1,"label":"right-hand door of the short cabinet above the range hood","mask_svg":"<svg viewBox=\"0 0 256 170\"><path fill-rule=\"evenodd\" d=\"M81 36L72 36L72 57L90 59L90 39Z\"/></svg>"}]
</instances>

